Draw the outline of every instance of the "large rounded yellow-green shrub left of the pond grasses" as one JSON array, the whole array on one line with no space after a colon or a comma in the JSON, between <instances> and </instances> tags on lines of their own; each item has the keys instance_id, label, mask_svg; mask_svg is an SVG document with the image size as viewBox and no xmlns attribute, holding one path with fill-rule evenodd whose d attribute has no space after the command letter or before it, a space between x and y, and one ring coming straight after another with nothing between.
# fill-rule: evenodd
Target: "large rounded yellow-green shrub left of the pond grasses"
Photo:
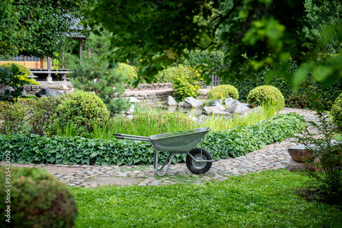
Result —
<instances>
[{"instance_id":1,"label":"large rounded yellow-green shrub left of the pond grasses","mask_svg":"<svg viewBox=\"0 0 342 228\"><path fill-rule=\"evenodd\" d=\"M86 91L75 91L73 94L60 96L60 104L51 119L49 134L57 132L57 126L65 129L73 125L77 135L86 137L93 124L107 122L109 111L95 94Z\"/></svg>"}]
</instances>

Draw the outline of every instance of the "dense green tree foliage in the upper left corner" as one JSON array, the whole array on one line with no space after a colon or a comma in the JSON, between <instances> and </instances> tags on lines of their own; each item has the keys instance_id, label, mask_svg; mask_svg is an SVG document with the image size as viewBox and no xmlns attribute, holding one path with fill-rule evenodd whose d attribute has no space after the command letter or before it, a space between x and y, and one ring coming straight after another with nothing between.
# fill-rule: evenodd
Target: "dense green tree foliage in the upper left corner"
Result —
<instances>
[{"instance_id":1,"label":"dense green tree foliage in the upper left corner","mask_svg":"<svg viewBox=\"0 0 342 228\"><path fill-rule=\"evenodd\" d=\"M87 0L3 0L0 4L0 55L52 56L66 40L64 32Z\"/></svg>"}]
</instances>

